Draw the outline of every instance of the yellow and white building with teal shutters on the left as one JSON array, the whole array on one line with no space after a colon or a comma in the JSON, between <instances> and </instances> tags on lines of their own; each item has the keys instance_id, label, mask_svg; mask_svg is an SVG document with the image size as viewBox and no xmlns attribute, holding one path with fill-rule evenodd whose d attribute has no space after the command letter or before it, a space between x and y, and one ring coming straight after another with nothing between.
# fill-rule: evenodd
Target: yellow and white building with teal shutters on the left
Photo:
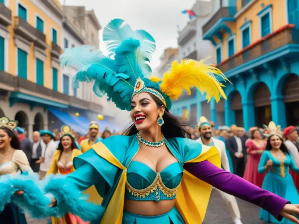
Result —
<instances>
[{"instance_id":1,"label":"yellow and white building with teal shutters on the left","mask_svg":"<svg viewBox=\"0 0 299 224\"><path fill-rule=\"evenodd\" d=\"M102 111L97 103L63 93L59 56L67 20L58 1L1 2L0 116L17 120L31 137L33 131L51 129L52 109Z\"/></svg>"}]
</instances>

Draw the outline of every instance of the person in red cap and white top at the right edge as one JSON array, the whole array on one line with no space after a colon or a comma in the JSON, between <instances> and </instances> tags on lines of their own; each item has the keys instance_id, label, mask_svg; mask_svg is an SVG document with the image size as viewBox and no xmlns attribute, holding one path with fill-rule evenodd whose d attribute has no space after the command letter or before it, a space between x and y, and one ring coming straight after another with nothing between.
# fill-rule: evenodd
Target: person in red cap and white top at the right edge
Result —
<instances>
[{"instance_id":1,"label":"person in red cap and white top at the right edge","mask_svg":"<svg viewBox=\"0 0 299 224\"><path fill-rule=\"evenodd\" d=\"M284 144L289 152L292 154L294 162L299 167L299 141L298 129L294 126L289 126L283 130L283 135L286 137ZM299 190L299 175L290 170L290 174L294 179L295 186Z\"/></svg>"}]
</instances>

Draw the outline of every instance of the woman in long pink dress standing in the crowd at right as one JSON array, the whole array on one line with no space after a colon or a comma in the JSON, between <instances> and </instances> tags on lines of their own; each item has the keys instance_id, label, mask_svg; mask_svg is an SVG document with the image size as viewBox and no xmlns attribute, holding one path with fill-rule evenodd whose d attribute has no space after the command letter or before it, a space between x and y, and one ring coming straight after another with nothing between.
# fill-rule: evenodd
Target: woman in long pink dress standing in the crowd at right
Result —
<instances>
[{"instance_id":1,"label":"woman in long pink dress standing in the crowd at right","mask_svg":"<svg viewBox=\"0 0 299 224\"><path fill-rule=\"evenodd\" d=\"M247 153L249 158L246 164L243 178L258 187L262 187L263 180L266 174L260 174L257 171L261 154L265 150L267 142L262 139L262 134L258 128L249 129L251 139L246 141Z\"/></svg>"}]
</instances>

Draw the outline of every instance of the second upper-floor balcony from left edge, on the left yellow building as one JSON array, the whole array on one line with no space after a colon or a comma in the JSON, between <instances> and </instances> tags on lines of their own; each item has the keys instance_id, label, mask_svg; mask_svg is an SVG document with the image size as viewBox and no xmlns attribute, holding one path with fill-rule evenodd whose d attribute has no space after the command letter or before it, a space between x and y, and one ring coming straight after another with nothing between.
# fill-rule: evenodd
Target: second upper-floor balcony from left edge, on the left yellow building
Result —
<instances>
[{"instance_id":1,"label":"second upper-floor balcony from left edge, on the left yellow building","mask_svg":"<svg viewBox=\"0 0 299 224\"><path fill-rule=\"evenodd\" d=\"M27 21L22 19L19 16L15 16L15 34L25 38L29 42L33 42L36 40L35 31L36 28L31 26Z\"/></svg>"}]
</instances>

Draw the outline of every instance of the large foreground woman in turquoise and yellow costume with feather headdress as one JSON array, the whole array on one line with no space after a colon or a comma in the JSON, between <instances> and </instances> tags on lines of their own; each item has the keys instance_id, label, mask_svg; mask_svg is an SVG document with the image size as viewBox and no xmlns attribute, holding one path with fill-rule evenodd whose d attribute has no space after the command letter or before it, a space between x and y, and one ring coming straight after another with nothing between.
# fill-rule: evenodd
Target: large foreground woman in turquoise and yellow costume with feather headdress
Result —
<instances>
[{"instance_id":1,"label":"large foreground woman in turquoise and yellow costume with feather headdress","mask_svg":"<svg viewBox=\"0 0 299 224\"><path fill-rule=\"evenodd\" d=\"M223 85L215 78L226 79L220 70L204 60L175 61L162 80L149 79L147 62L156 47L152 36L114 19L104 28L103 40L113 59L83 46L65 49L61 63L78 68L76 82L94 80L94 92L107 94L118 108L130 111L133 124L124 135L103 139L75 157L75 172L49 177L39 192L37 187L28 189L34 185L30 175L26 182L19 176L7 178L0 182L0 198L7 191L17 194L12 200L32 217L58 217L68 211L92 224L193 224L203 222L213 185L266 209L278 220L287 217L299 224L290 215L299 213L299 205L221 169L217 149L186 138L190 134L169 112L171 99L178 99L183 89L190 93L190 87L206 92L208 100L225 98ZM91 185L103 197L101 205L82 198L80 192ZM34 209L33 200L39 203Z\"/></svg>"}]
</instances>

